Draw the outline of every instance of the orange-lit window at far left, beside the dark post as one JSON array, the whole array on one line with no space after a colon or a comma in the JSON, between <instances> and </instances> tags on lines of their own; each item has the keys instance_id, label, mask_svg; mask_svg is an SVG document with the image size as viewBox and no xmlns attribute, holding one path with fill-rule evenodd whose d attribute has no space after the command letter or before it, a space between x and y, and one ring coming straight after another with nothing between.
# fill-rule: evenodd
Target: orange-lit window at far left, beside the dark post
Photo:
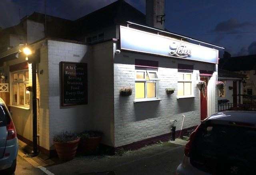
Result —
<instances>
[{"instance_id":1,"label":"orange-lit window at far left, beside the dark post","mask_svg":"<svg viewBox=\"0 0 256 175\"><path fill-rule=\"evenodd\" d=\"M30 91L28 85L28 70L12 72L12 105L29 107Z\"/></svg>"}]
</instances>

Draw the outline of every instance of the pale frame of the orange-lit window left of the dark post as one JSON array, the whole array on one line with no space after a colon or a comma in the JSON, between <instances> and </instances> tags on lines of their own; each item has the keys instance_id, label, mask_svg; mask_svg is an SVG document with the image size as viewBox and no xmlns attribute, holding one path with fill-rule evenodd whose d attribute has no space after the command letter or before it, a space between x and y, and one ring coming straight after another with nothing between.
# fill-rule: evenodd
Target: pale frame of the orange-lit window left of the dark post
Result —
<instances>
[{"instance_id":1,"label":"pale frame of the orange-lit window left of the dark post","mask_svg":"<svg viewBox=\"0 0 256 175\"><path fill-rule=\"evenodd\" d=\"M28 80L26 80L26 77L25 77L26 72L29 72L29 70L25 69L25 70L18 70L18 71L10 72L10 74L11 74L10 82L12 83L11 84L11 88L12 88L11 101L12 101L12 105L29 108L30 104L26 104L26 86L29 84L29 78L28 78ZM14 81L14 79L13 79L14 74L18 75L18 80L16 80L16 81ZM19 74L23 74L23 79L22 80L19 80ZM28 73L28 76L29 76L29 73ZM13 85L14 84L16 84L16 86L17 86L17 102L14 102L14 100L13 100L13 97L14 97L13 96L14 95ZM19 94L20 93L19 92L20 87L19 87L19 84L24 84L24 105L20 104L20 94ZM29 95L29 98L30 98L30 95Z\"/></svg>"}]
</instances>

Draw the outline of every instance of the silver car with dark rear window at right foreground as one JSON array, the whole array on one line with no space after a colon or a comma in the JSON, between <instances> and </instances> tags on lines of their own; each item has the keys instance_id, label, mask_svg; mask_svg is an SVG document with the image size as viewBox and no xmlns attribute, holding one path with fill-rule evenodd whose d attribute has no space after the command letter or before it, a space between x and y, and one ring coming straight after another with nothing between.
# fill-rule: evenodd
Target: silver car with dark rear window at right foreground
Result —
<instances>
[{"instance_id":1,"label":"silver car with dark rear window at right foreground","mask_svg":"<svg viewBox=\"0 0 256 175\"><path fill-rule=\"evenodd\" d=\"M222 111L190 135L176 175L255 175L256 111Z\"/></svg>"}]
</instances>

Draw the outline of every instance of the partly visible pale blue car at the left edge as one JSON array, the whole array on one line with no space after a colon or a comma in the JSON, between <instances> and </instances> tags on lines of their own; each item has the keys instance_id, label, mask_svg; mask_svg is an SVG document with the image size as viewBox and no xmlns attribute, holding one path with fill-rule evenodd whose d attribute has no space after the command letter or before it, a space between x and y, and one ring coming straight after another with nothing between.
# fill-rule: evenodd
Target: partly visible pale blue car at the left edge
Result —
<instances>
[{"instance_id":1,"label":"partly visible pale blue car at the left edge","mask_svg":"<svg viewBox=\"0 0 256 175\"><path fill-rule=\"evenodd\" d=\"M0 174L12 174L16 169L18 139L12 117L0 98Z\"/></svg>"}]
</instances>

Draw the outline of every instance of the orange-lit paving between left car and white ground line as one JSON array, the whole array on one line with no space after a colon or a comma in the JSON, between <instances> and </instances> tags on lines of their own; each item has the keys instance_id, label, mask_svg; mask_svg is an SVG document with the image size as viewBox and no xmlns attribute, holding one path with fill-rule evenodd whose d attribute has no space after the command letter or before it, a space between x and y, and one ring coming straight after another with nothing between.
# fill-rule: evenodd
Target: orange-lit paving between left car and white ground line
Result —
<instances>
[{"instance_id":1,"label":"orange-lit paving between left car and white ground line","mask_svg":"<svg viewBox=\"0 0 256 175\"><path fill-rule=\"evenodd\" d=\"M43 171L33 167L19 155L17 156L17 166L15 175L46 175Z\"/></svg>"}]
</instances>

